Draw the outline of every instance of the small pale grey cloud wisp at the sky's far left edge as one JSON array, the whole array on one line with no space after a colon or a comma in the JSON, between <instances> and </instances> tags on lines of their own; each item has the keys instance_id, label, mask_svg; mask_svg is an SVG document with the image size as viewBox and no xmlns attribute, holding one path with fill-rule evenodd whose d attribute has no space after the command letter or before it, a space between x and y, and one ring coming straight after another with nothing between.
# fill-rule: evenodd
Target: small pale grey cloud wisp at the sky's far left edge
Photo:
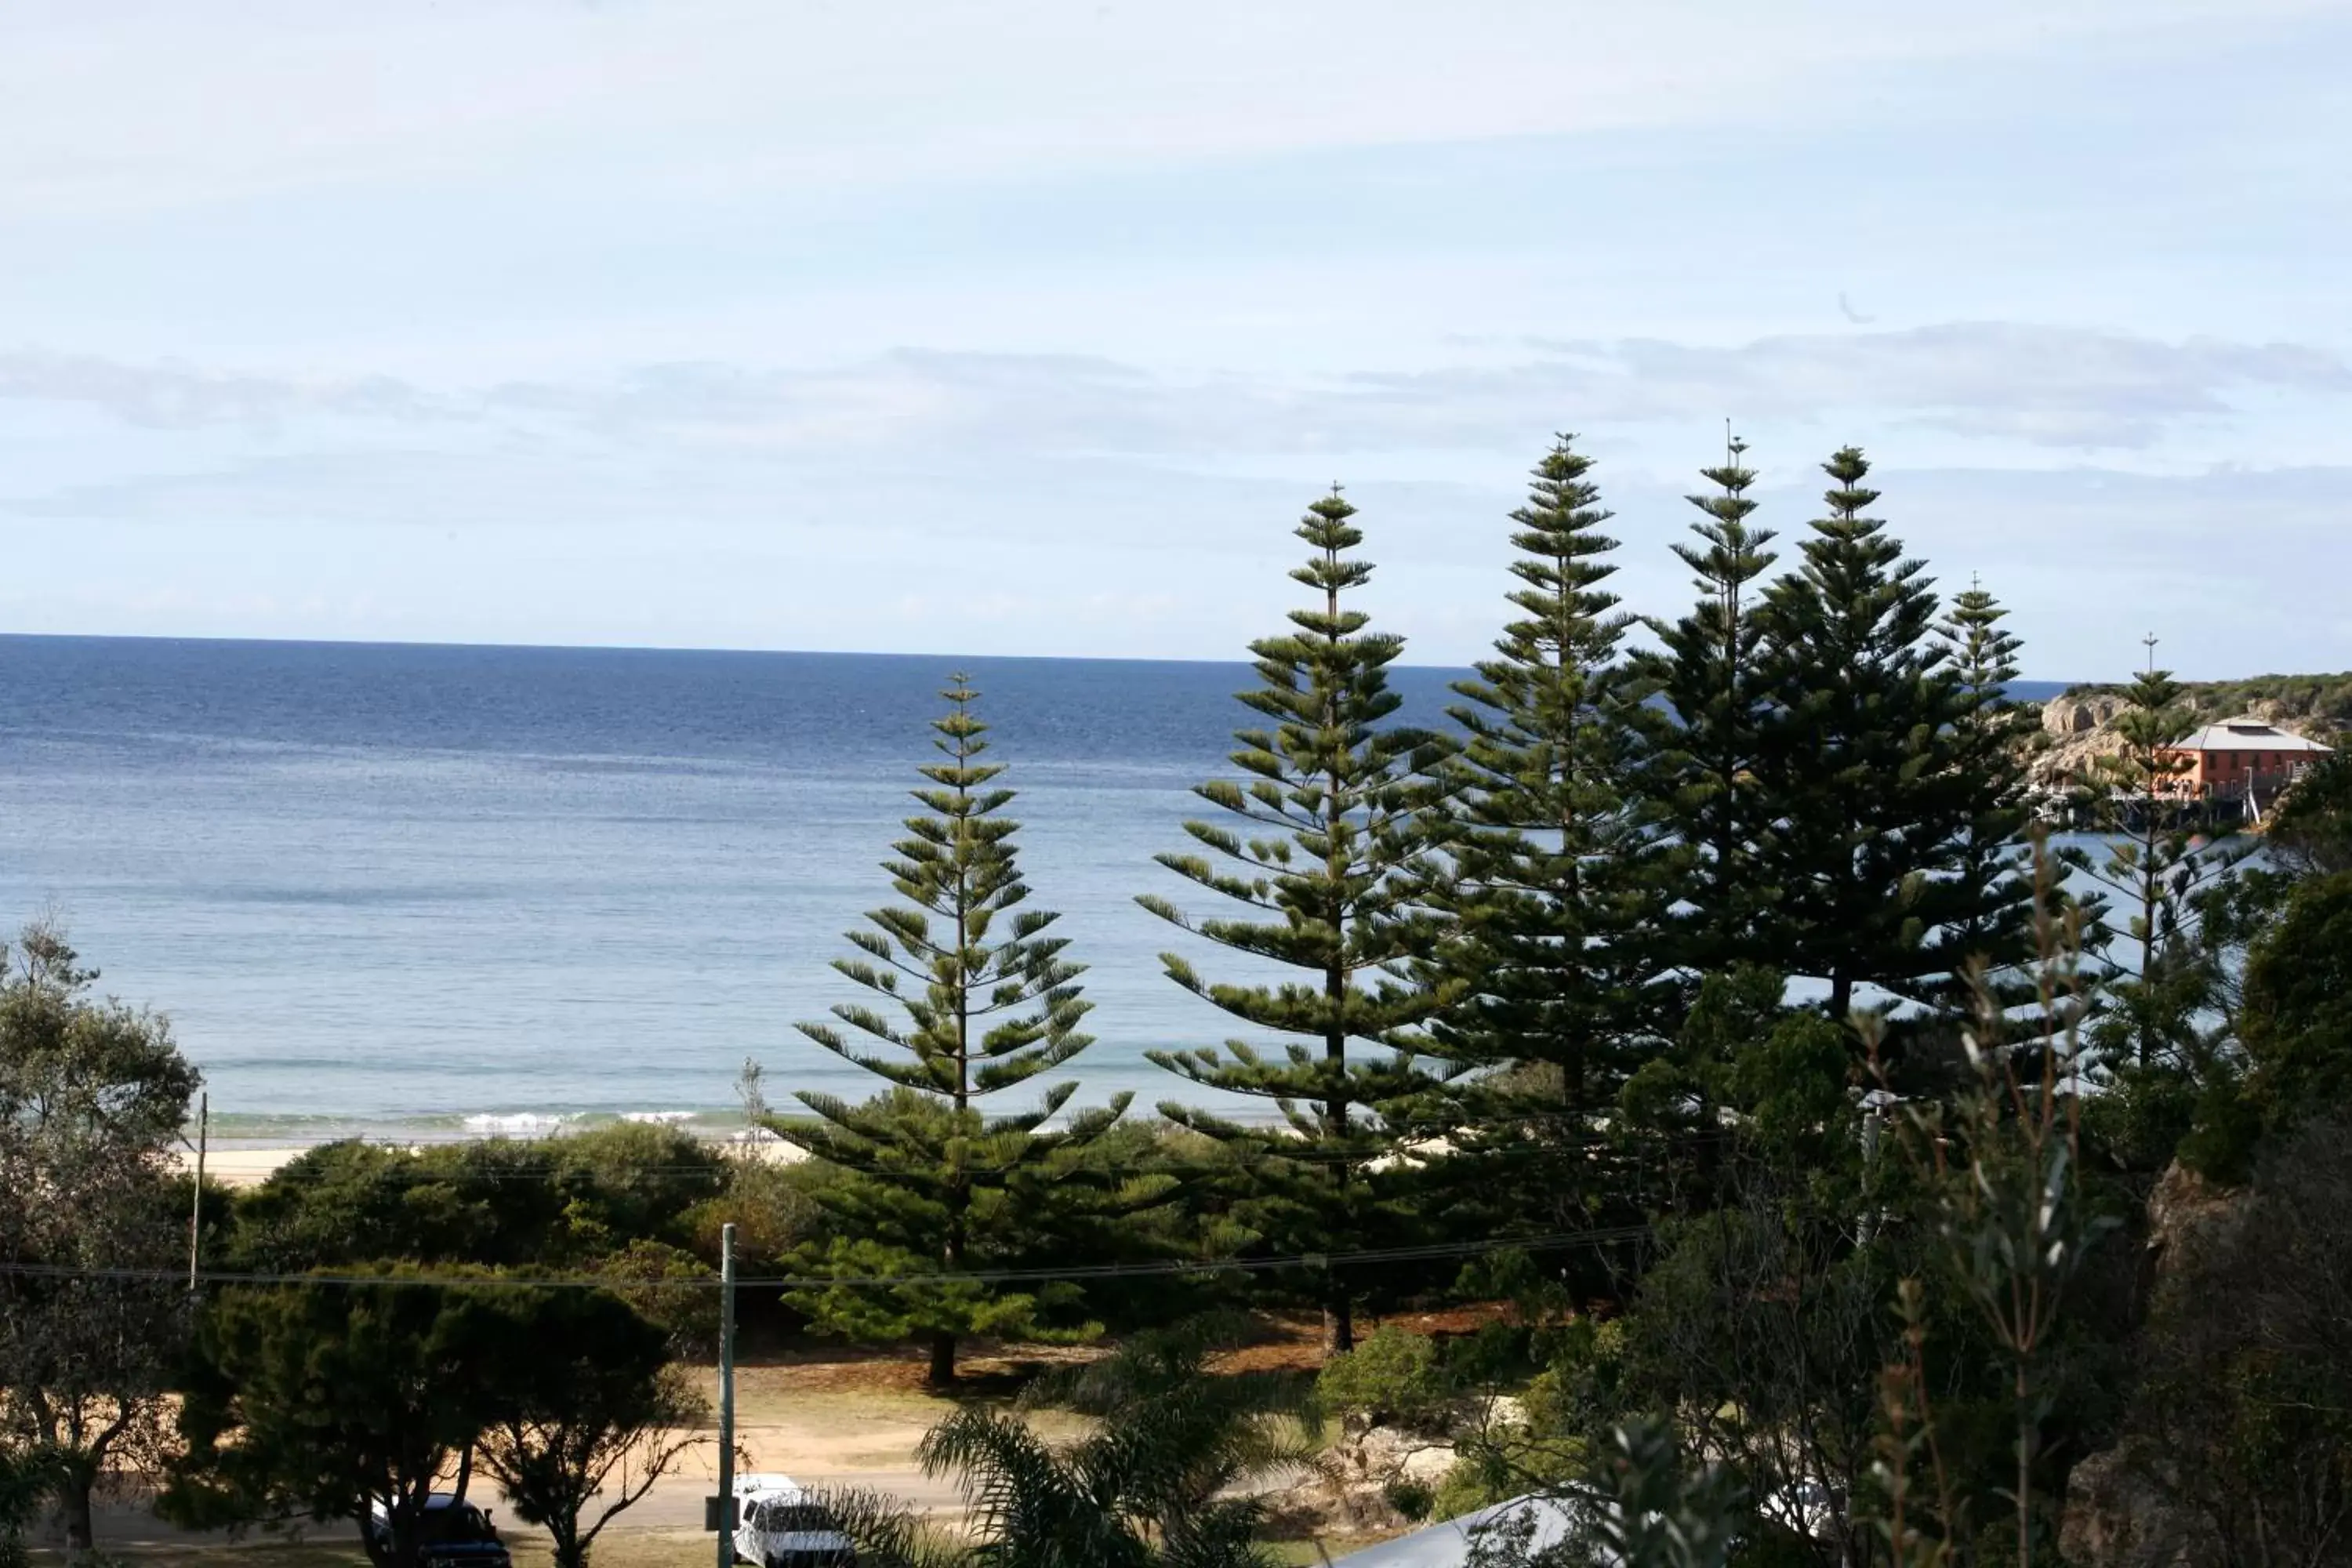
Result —
<instances>
[{"instance_id":1,"label":"small pale grey cloud wisp at the sky's far left edge","mask_svg":"<svg viewBox=\"0 0 2352 1568\"><path fill-rule=\"evenodd\" d=\"M433 397L390 376L287 381L31 348L0 353L0 400L9 397L85 404L151 430L275 425L299 414L397 423L447 416Z\"/></svg>"}]
</instances>

